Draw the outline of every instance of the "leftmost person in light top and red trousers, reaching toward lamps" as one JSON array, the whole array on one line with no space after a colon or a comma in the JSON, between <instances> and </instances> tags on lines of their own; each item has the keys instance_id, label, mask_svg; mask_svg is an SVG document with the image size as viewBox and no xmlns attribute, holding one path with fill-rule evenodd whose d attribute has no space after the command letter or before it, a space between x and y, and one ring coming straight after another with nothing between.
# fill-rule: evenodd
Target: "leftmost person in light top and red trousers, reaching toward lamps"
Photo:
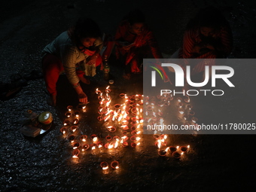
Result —
<instances>
[{"instance_id":1,"label":"leftmost person in light top and red trousers, reaching toward lamps","mask_svg":"<svg viewBox=\"0 0 256 192\"><path fill-rule=\"evenodd\" d=\"M90 18L81 17L75 26L62 32L42 51L44 81L50 98L49 105L56 105L56 82L59 74L65 72L69 83L78 93L78 100L87 103L87 95L79 82L90 84L84 77L94 76L96 66L102 62L99 52L102 47L101 30Z\"/></svg>"}]
</instances>

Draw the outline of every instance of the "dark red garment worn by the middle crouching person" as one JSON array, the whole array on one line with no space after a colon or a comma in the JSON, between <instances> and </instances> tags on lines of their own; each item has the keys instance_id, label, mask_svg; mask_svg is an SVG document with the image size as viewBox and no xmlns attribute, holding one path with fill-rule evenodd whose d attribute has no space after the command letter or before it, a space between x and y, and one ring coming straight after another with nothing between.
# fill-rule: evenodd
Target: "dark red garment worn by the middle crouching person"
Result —
<instances>
[{"instance_id":1,"label":"dark red garment worn by the middle crouching person","mask_svg":"<svg viewBox=\"0 0 256 192\"><path fill-rule=\"evenodd\" d=\"M163 58L153 32L148 29L148 26L145 26L142 35L136 35L130 32L129 22L123 20L117 28L114 40L117 44L117 58L119 58L120 54L126 56L125 64L132 64L132 72L140 71L138 62L141 57L144 58L144 56L151 53L156 59ZM130 50L126 51L119 41L126 41L129 44L133 43L133 45Z\"/></svg>"}]
</instances>

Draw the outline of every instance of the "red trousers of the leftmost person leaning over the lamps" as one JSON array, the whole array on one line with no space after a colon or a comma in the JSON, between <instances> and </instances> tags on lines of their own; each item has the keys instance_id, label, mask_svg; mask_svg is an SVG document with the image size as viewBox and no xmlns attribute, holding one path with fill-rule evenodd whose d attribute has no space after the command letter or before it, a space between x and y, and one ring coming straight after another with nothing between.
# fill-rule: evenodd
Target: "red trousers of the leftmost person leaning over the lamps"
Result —
<instances>
[{"instance_id":1,"label":"red trousers of the leftmost person leaning over the lamps","mask_svg":"<svg viewBox=\"0 0 256 192\"><path fill-rule=\"evenodd\" d=\"M102 62L101 56L98 56L96 59L96 66L99 66ZM63 64L61 60L53 55L48 53L44 56L42 60L42 69L44 73L44 81L46 84L46 88L50 95L56 95L56 83L59 79L59 74L64 71ZM84 72L77 70L78 77L83 77Z\"/></svg>"}]
</instances>

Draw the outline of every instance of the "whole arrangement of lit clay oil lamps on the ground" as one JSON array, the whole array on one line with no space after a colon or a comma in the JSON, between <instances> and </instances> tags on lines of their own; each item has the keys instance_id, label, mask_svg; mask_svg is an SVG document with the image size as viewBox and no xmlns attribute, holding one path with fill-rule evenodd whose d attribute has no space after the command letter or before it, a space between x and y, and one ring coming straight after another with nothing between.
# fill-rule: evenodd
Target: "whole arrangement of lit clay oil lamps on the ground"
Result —
<instances>
[{"instance_id":1,"label":"whole arrangement of lit clay oil lamps on the ground","mask_svg":"<svg viewBox=\"0 0 256 192\"><path fill-rule=\"evenodd\" d=\"M90 151L91 154L116 154L121 148L128 146L136 148L142 143L142 127L143 127L143 111L145 111L145 122L151 125L163 124L165 109L170 105L175 105L177 109L177 117L183 123L197 123L197 118L194 117L192 105L190 105L189 96L184 98L174 98L172 94L163 94L150 98L143 95L127 96L125 93L120 93L119 101L121 104L113 104L111 99L111 90L105 88L103 93L98 88L96 94L99 99L99 122L108 131L108 133L117 133L118 136L97 136L96 134L87 137L79 135L80 116L86 111L86 107L78 105L74 109L71 105L67 107L66 120L60 129L63 136L69 139L70 145L73 148L72 158L79 159L85 151ZM144 99L144 101L143 101ZM143 108L144 104L144 108ZM168 135L154 132L155 145L160 156L172 156L180 159L185 153L190 151L190 145L187 146L170 146L167 147ZM130 141L130 143L129 143ZM107 153L106 153L107 152ZM108 166L107 162L100 164L103 171L110 167L119 169L119 163L114 160Z\"/></svg>"}]
</instances>

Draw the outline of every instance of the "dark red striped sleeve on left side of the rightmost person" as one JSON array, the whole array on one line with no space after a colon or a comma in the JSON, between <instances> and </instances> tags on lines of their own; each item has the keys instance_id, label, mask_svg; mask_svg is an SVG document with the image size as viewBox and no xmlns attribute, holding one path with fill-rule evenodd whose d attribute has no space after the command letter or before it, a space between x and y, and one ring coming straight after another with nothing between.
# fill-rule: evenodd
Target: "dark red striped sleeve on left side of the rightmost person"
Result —
<instances>
[{"instance_id":1,"label":"dark red striped sleeve on left side of the rightmost person","mask_svg":"<svg viewBox=\"0 0 256 192\"><path fill-rule=\"evenodd\" d=\"M196 44L194 35L191 29L185 31L183 38L183 58L190 58L193 56L193 48Z\"/></svg>"}]
</instances>

